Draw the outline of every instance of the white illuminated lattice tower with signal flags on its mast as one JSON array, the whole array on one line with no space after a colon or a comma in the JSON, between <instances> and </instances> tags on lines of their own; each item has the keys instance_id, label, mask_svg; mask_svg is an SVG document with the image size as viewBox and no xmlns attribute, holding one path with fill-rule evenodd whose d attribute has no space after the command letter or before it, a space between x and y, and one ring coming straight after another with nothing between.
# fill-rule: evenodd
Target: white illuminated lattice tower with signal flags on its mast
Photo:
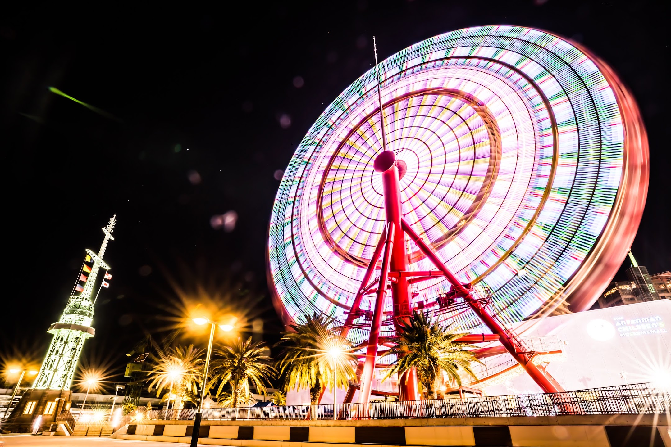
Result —
<instances>
[{"instance_id":1,"label":"white illuminated lattice tower with signal flags on its mast","mask_svg":"<svg viewBox=\"0 0 671 447\"><path fill-rule=\"evenodd\" d=\"M91 327L93 306L97 298L97 294L94 294L95 279L101 267L106 271L105 276L109 277L107 273L109 265L103 261L103 255L105 255L109 240L114 240L112 232L117 221L116 216L114 214L109 219L107 227L103 228L105 239L103 239L103 245L101 245L98 253L87 249L86 260L72 289L68 305L65 307L60 320L52 324L47 331L54 334L54 338L49 345L49 350L35 381L35 389L70 389L72 376L74 376L74 369L79 361L84 340L95 335L95 329ZM103 285L107 287L105 281L99 287ZM99 291L100 289L98 289Z\"/></svg>"}]
</instances>

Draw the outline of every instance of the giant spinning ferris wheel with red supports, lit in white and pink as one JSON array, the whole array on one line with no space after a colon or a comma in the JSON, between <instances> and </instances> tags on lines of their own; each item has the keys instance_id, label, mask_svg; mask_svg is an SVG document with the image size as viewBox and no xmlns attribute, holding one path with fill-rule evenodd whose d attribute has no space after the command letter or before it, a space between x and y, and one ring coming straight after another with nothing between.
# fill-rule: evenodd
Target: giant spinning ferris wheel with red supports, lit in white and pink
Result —
<instances>
[{"instance_id":1,"label":"giant spinning ferris wheel with red supports, lit in white and pink","mask_svg":"<svg viewBox=\"0 0 671 447\"><path fill-rule=\"evenodd\" d=\"M378 338L412 310L491 332L560 391L509 326L589 308L647 188L645 129L607 64L537 29L442 34L376 64L301 141L270 220L276 308L362 343L364 399Z\"/></svg>"}]
</instances>

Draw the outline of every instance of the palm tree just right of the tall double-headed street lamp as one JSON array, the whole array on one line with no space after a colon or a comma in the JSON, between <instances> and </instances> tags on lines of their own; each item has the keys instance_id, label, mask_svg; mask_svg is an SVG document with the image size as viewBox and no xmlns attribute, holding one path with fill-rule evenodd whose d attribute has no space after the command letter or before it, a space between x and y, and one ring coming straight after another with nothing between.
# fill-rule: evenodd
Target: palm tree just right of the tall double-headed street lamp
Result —
<instances>
[{"instance_id":1,"label":"palm tree just right of the tall double-headed street lamp","mask_svg":"<svg viewBox=\"0 0 671 447\"><path fill-rule=\"evenodd\" d=\"M224 385L231 386L232 407L240 406L242 398L250 395L250 382L256 385L256 389L262 393L266 392L264 381L274 377L276 370L270 365L270 357L266 355L268 348L262 342L252 342L252 337L246 341L238 337L233 346L223 346L215 350L219 357L212 362L212 379L214 385L221 381L217 396L221 393Z\"/></svg>"}]
</instances>

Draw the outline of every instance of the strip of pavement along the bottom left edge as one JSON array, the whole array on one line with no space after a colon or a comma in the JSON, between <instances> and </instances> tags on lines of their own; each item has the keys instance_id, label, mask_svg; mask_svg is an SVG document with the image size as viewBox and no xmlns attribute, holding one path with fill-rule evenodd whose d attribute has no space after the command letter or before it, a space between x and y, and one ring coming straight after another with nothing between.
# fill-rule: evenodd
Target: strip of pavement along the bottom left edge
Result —
<instances>
[{"instance_id":1,"label":"strip of pavement along the bottom left edge","mask_svg":"<svg viewBox=\"0 0 671 447\"><path fill-rule=\"evenodd\" d=\"M123 439L98 438L97 436L32 436L30 434L9 434L0 440L5 441L5 447L185 447L189 444L178 442L150 442L130 441ZM205 444L199 444L199 447ZM214 446L212 446L214 447Z\"/></svg>"}]
</instances>

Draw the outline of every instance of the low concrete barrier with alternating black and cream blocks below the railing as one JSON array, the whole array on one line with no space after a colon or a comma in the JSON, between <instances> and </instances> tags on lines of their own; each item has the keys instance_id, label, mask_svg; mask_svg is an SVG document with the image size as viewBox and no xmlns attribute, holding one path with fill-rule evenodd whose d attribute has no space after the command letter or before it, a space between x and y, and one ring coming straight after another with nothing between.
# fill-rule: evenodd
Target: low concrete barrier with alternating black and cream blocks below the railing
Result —
<instances>
[{"instance_id":1,"label":"low concrete barrier with alternating black and cream blocks below the railing","mask_svg":"<svg viewBox=\"0 0 671 447\"><path fill-rule=\"evenodd\" d=\"M191 421L144 421L111 438L190 442ZM284 422L284 424L281 424ZM666 416L547 416L362 421L203 421L199 444L241 447L671 447Z\"/></svg>"}]
</instances>

